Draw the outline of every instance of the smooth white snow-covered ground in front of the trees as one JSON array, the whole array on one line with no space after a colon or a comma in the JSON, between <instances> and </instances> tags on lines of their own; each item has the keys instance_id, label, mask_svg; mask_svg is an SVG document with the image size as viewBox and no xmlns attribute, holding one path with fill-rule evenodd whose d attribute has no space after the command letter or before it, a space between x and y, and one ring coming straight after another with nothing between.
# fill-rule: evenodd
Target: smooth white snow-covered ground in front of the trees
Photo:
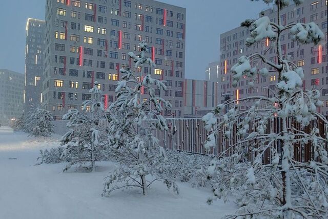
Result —
<instances>
[{"instance_id":1,"label":"smooth white snow-covered ground in front of the trees","mask_svg":"<svg viewBox=\"0 0 328 219\"><path fill-rule=\"evenodd\" d=\"M178 183L180 194L154 184L147 196L140 190L101 197L103 178L111 164L98 163L97 172L61 172L65 164L35 166L39 149L57 146L59 136L28 137L0 128L0 218L220 218L233 213L233 203L206 204L209 189Z\"/></svg>"}]
</instances>

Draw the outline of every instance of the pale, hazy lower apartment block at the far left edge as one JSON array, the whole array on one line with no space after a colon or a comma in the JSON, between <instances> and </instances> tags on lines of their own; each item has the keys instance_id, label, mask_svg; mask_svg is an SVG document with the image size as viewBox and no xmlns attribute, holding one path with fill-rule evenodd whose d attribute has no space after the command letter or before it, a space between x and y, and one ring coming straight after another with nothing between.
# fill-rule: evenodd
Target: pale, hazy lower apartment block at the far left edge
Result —
<instances>
[{"instance_id":1,"label":"pale, hazy lower apartment block at the far left edge","mask_svg":"<svg viewBox=\"0 0 328 219\"><path fill-rule=\"evenodd\" d=\"M0 124L23 114L24 74L0 69Z\"/></svg>"}]
</instances>

